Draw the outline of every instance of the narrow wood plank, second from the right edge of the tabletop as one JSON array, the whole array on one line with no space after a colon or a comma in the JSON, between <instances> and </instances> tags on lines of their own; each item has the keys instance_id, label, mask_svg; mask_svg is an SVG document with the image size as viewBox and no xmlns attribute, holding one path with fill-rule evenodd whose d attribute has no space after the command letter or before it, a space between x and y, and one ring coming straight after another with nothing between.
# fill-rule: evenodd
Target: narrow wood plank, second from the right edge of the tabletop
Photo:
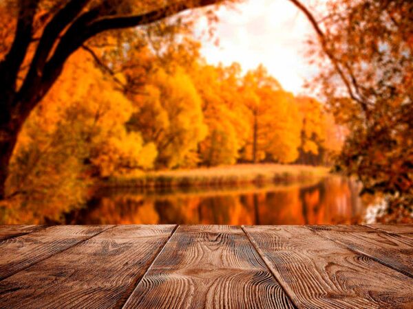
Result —
<instances>
[{"instance_id":1,"label":"narrow wood plank, second from the right edge of the tabletop","mask_svg":"<svg viewBox=\"0 0 413 309\"><path fill-rule=\"evenodd\" d=\"M411 239L361 225L313 225L310 229L413 278Z\"/></svg>"}]
</instances>

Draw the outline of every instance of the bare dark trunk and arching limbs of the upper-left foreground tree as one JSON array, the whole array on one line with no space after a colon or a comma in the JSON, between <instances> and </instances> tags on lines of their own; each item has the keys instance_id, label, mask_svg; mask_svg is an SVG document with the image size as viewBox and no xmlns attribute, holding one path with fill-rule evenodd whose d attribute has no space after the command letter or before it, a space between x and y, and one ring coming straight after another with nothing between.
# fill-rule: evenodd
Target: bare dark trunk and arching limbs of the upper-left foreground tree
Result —
<instances>
[{"instance_id":1,"label":"bare dark trunk and arching limbs of the upper-left foreground tree","mask_svg":"<svg viewBox=\"0 0 413 309\"><path fill-rule=\"evenodd\" d=\"M116 8L107 5L106 1L85 11L85 6L90 2L67 1L47 22L30 60L28 73L18 89L19 70L32 42L39 0L17 0L19 13L14 40L8 54L0 61L0 201L6 198L9 163L23 122L52 87L65 61L76 49L101 32L147 25L220 0L182 1L134 16L117 16Z\"/></svg>"}]
</instances>

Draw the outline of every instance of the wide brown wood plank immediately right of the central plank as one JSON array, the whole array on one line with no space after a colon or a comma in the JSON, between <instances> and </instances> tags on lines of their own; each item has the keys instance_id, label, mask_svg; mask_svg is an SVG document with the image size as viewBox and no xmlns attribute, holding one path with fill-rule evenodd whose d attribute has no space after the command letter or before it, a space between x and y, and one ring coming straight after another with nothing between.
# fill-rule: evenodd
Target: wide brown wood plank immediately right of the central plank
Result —
<instances>
[{"instance_id":1,"label":"wide brown wood plank immediately right of the central plank","mask_svg":"<svg viewBox=\"0 0 413 309\"><path fill-rule=\"evenodd\" d=\"M412 308L410 278L306 227L243 227L299 308Z\"/></svg>"}]
</instances>

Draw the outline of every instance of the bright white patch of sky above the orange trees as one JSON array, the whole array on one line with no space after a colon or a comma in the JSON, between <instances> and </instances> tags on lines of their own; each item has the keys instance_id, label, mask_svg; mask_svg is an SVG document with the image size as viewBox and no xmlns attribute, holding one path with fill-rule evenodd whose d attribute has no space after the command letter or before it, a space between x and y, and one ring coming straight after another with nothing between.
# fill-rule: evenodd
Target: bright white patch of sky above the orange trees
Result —
<instances>
[{"instance_id":1,"label":"bright white patch of sky above the orange trees","mask_svg":"<svg viewBox=\"0 0 413 309\"><path fill-rule=\"evenodd\" d=\"M260 63L287 91L307 93L306 79L316 68L306 59L306 39L313 28L288 0L246 0L235 8L220 8L215 36L220 44L202 39L201 54L211 64L240 62L242 69L255 69ZM207 27L201 20L198 27Z\"/></svg>"}]
</instances>

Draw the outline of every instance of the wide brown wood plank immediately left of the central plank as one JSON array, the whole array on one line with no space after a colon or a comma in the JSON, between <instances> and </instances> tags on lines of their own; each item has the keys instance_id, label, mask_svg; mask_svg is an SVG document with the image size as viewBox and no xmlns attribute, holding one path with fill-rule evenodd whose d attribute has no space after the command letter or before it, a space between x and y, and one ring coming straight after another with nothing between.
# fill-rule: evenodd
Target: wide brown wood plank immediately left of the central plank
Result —
<instances>
[{"instance_id":1,"label":"wide brown wood plank immediately left of the central plank","mask_svg":"<svg viewBox=\"0 0 413 309\"><path fill-rule=\"evenodd\" d=\"M175 225L123 225L0 282L4 308L120 308Z\"/></svg>"}]
</instances>

